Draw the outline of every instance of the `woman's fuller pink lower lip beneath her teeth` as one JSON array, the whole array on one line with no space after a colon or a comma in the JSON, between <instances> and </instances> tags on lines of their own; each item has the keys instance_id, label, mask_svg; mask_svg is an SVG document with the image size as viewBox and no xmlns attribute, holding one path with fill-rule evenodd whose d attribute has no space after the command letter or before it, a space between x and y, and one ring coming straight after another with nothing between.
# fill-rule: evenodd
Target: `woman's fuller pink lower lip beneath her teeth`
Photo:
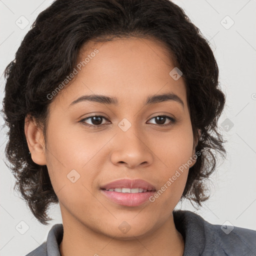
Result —
<instances>
[{"instance_id":1,"label":"woman's fuller pink lower lip beneath her teeth","mask_svg":"<svg viewBox=\"0 0 256 256\"><path fill-rule=\"evenodd\" d=\"M139 206L145 201L149 200L148 198L155 193L155 191L147 191L141 193L122 193L115 191L108 191L100 189L103 194L110 200L125 206Z\"/></svg>"}]
</instances>

